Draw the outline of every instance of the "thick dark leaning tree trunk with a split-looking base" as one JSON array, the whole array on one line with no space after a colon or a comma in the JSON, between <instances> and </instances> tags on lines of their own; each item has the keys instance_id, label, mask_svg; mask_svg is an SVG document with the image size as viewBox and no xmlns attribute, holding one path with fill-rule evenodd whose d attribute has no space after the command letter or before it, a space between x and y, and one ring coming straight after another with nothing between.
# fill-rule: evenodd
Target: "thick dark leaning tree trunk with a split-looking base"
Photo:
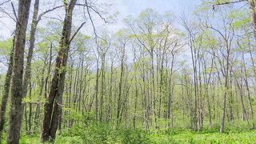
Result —
<instances>
[{"instance_id":1,"label":"thick dark leaning tree trunk with a split-looking base","mask_svg":"<svg viewBox=\"0 0 256 144\"><path fill-rule=\"evenodd\" d=\"M56 130L58 129L59 118L62 111L62 94L64 90L66 63L70 50L70 33L72 26L72 16L74 6L77 0L71 0L66 3L66 17L62 29L62 39L60 50L56 58L54 77L52 79L50 94L45 104L45 114L42 127L42 142L54 140ZM54 108L53 108L54 107Z\"/></svg>"}]
</instances>

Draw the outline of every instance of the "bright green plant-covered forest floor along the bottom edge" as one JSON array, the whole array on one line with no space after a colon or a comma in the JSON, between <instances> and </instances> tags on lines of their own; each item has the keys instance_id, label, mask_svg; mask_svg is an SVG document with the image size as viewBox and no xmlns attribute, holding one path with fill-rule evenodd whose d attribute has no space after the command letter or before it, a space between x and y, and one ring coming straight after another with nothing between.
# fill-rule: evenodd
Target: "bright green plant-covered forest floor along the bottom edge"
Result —
<instances>
[{"instance_id":1,"label":"bright green plant-covered forest floor along the bottom edge","mask_svg":"<svg viewBox=\"0 0 256 144\"><path fill-rule=\"evenodd\" d=\"M76 134L74 134L76 133ZM5 143L5 142L4 142ZM40 136L23 135L23 144L40 143ZM256 143L256 130L229 130L226 134L220 134L216 130L203 130L194 132L192 130L165 130L150 131L143 130L66 130L58 135L54 143Z\"/></svg>"}]
</instances>

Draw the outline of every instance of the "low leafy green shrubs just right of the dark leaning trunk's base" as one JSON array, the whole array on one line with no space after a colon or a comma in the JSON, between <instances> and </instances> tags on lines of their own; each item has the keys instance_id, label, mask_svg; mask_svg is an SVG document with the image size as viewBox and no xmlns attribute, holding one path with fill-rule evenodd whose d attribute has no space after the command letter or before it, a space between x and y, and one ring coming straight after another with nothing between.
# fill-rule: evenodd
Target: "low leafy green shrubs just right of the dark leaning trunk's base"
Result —
<instances>
[{"instance_id":1,"label":"low leafy green shrubs just right of the dark leaning trunk's base","mask_svg":"<svg viewBox=\"0 0 256 144\"><path fill-rule=\"evenodd\" d=\"M95 123L89 126L74 126L72 129L64 131L56 142L66 142L69 138L76 138L74 143L150 143L149 136L144 130L115 130L107 124L97 125ZM66 141L62 139L66 139Z\"/></svg>"}]
</instances>

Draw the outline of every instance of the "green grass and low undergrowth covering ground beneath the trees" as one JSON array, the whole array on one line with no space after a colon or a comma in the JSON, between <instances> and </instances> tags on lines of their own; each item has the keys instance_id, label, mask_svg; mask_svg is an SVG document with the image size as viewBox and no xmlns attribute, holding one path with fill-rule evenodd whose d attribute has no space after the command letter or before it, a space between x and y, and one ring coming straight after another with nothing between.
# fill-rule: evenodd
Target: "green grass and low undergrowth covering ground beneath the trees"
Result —
<instances>
[{"instance_id":1,"label":"green grass and low undergrowth covering ground beneath the trees","mask_svg":"<svg viewBox=\"0 0 256 144\"><path fill-rule=\"evenodd\" d=\"M122 126L121 126L122 127ZM22 133L21 144L40 144L40 128L38 133L27 135ZM3 142L6 143L6 134ZM174 128L166 130L142 130L125 129L116 130L108 124L90 123L90 125L77 125L70 129L62 130L57 134L56 144L246 144L256 143L256 130L250 130L243 122L233 123L226 126L226 133L219 133L219 126L214 128L205 127L201 131Z\"/></svg>"}]
</instances>

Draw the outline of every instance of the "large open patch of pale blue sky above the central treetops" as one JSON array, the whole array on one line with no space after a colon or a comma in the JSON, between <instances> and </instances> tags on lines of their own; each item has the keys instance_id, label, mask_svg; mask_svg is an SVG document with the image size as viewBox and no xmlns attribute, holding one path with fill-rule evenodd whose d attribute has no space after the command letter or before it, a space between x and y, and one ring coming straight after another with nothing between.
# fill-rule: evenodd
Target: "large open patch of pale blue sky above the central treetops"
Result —
<instances>
[{"instance_id":1,"label":"large open patch of pale blue sky above the central treetops","mask_svg":"<svg viewBox=\"0 0 256 144\"><path fill-rule=\"evenodd\" d=\"M107 0L102 1L106 2ZM191 14L202 0L110 0L109 2L113 4L112 10L119 13L117 23L114 26L109 26L109 29L117 31L124 26L123 18L128 15L136 17L147 8L152 8L159 14L172 12L178 17L183 13Z\"/></svg>"}]
</instances>

